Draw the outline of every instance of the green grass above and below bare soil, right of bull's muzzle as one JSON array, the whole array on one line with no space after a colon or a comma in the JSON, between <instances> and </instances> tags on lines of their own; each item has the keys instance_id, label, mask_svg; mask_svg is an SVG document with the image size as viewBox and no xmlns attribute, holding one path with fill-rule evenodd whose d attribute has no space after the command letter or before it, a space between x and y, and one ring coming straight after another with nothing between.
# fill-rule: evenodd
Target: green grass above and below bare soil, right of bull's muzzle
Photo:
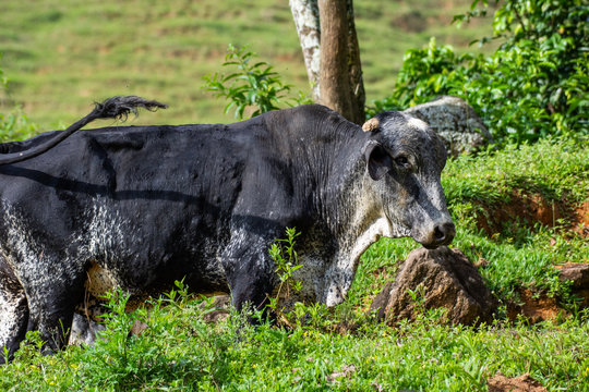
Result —
<instances>
[{"instance_id":1,"label":"green grass above and below bare soil, right of bull's muzzle","mask_svg":"<svg viewBox=\"0 0 589 392\"><path fill-rule=\"evenodd\" d=\"M512 217L491 237L477 222L512 203L514 195L541 195L546 203L579 206L589 189L589 140L544 139L533 146L509 146L478 158L462 156L444 171L450 212L459 222L454 245L471 260L490 261L482 271L491 286L509 296L515 285L553 294L566 290L552 268L565 261L588 262L589 244L569 231L566 219L552 229L529 225ZM491 211L491 212L490 212Z\"/></svg>"}]
</instances>

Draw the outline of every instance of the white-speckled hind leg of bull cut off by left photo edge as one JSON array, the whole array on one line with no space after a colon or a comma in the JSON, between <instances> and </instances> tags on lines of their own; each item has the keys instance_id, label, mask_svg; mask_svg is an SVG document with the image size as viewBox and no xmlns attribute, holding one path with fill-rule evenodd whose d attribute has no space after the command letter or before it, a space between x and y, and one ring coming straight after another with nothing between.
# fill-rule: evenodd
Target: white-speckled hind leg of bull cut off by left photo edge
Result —
<instances>
[{"instance_id":1,"label":"white-speckled hind leg of bull cut off by left photo edge","mask_svg":"<svg viewBox=\"0 0 589 392\"><path fill-rule=\"evenodd\" d=\"M21 283L0 258L0 364L11 359L25 339L28 305ZM8 358L4 355L8 351Z\"/></svg>"}]
</instances>

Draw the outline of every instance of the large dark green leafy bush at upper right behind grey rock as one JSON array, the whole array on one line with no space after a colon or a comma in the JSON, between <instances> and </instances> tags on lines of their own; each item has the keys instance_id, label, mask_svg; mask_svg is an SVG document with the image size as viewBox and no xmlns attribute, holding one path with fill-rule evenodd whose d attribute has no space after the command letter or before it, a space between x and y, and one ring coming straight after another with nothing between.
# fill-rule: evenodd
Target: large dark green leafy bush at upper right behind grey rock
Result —
<instances>
[{"instance_id":1,"label":"large dark green leafy bush at upper right behind grey rock","mask_svg":"<svg viewBox=\"0 0 589 392\"><path fill-rule=\"evenodd\" d=\"M479 3L486 5L474 0L456 20L482 13ZM409 50L393 95L374 102L369 114L453 95L469 102L503 144L589 134L588 19L581 0L501 2L491 39L504 42L495 53L456 54L434 39Z\"/></svg>"}]
</instances>

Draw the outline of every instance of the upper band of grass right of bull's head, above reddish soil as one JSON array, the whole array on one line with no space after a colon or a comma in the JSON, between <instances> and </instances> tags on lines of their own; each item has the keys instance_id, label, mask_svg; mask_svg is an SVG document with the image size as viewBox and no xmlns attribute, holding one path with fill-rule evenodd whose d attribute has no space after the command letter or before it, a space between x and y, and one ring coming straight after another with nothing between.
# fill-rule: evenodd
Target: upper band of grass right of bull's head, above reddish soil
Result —
<instances>
[{"instance_id":1,"label":"upper band of grass right of bull's head, above reddish soil","mask_svg":"<svg viewBox=\"0 0 589 392\"><path fill-rule=\"evenodd\" d=\"M580 203L589 188L588 147L587 137L545 138L533 146L510 145L497 152L462 156L445 169L442 185L450 205L509 201L514 192Z\"/></svg>"}]
</instances>

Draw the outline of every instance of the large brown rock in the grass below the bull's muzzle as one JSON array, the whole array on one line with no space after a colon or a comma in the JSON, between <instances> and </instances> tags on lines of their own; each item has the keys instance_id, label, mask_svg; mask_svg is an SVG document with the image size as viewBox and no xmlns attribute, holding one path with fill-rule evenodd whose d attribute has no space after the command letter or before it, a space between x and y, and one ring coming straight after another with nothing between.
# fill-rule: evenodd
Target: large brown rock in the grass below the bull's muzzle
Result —
<instances>
[{"instance_id":1,"label":"large brown rock in the grass below the bull's muzzle","mask_svg":"<svg viewBox=\"0 0 589 392\"><path fill-rule=\"evenodd\" d=\"M394 282L388 282L374 298L371 310L378 318L414 318L417 302L409 290L423 287L423 308L447 309L444 322L478 324L490 322L498 303L484 285L477 268L458 249L440 247L412 250Z\"/></svg>"}]
</instances>

